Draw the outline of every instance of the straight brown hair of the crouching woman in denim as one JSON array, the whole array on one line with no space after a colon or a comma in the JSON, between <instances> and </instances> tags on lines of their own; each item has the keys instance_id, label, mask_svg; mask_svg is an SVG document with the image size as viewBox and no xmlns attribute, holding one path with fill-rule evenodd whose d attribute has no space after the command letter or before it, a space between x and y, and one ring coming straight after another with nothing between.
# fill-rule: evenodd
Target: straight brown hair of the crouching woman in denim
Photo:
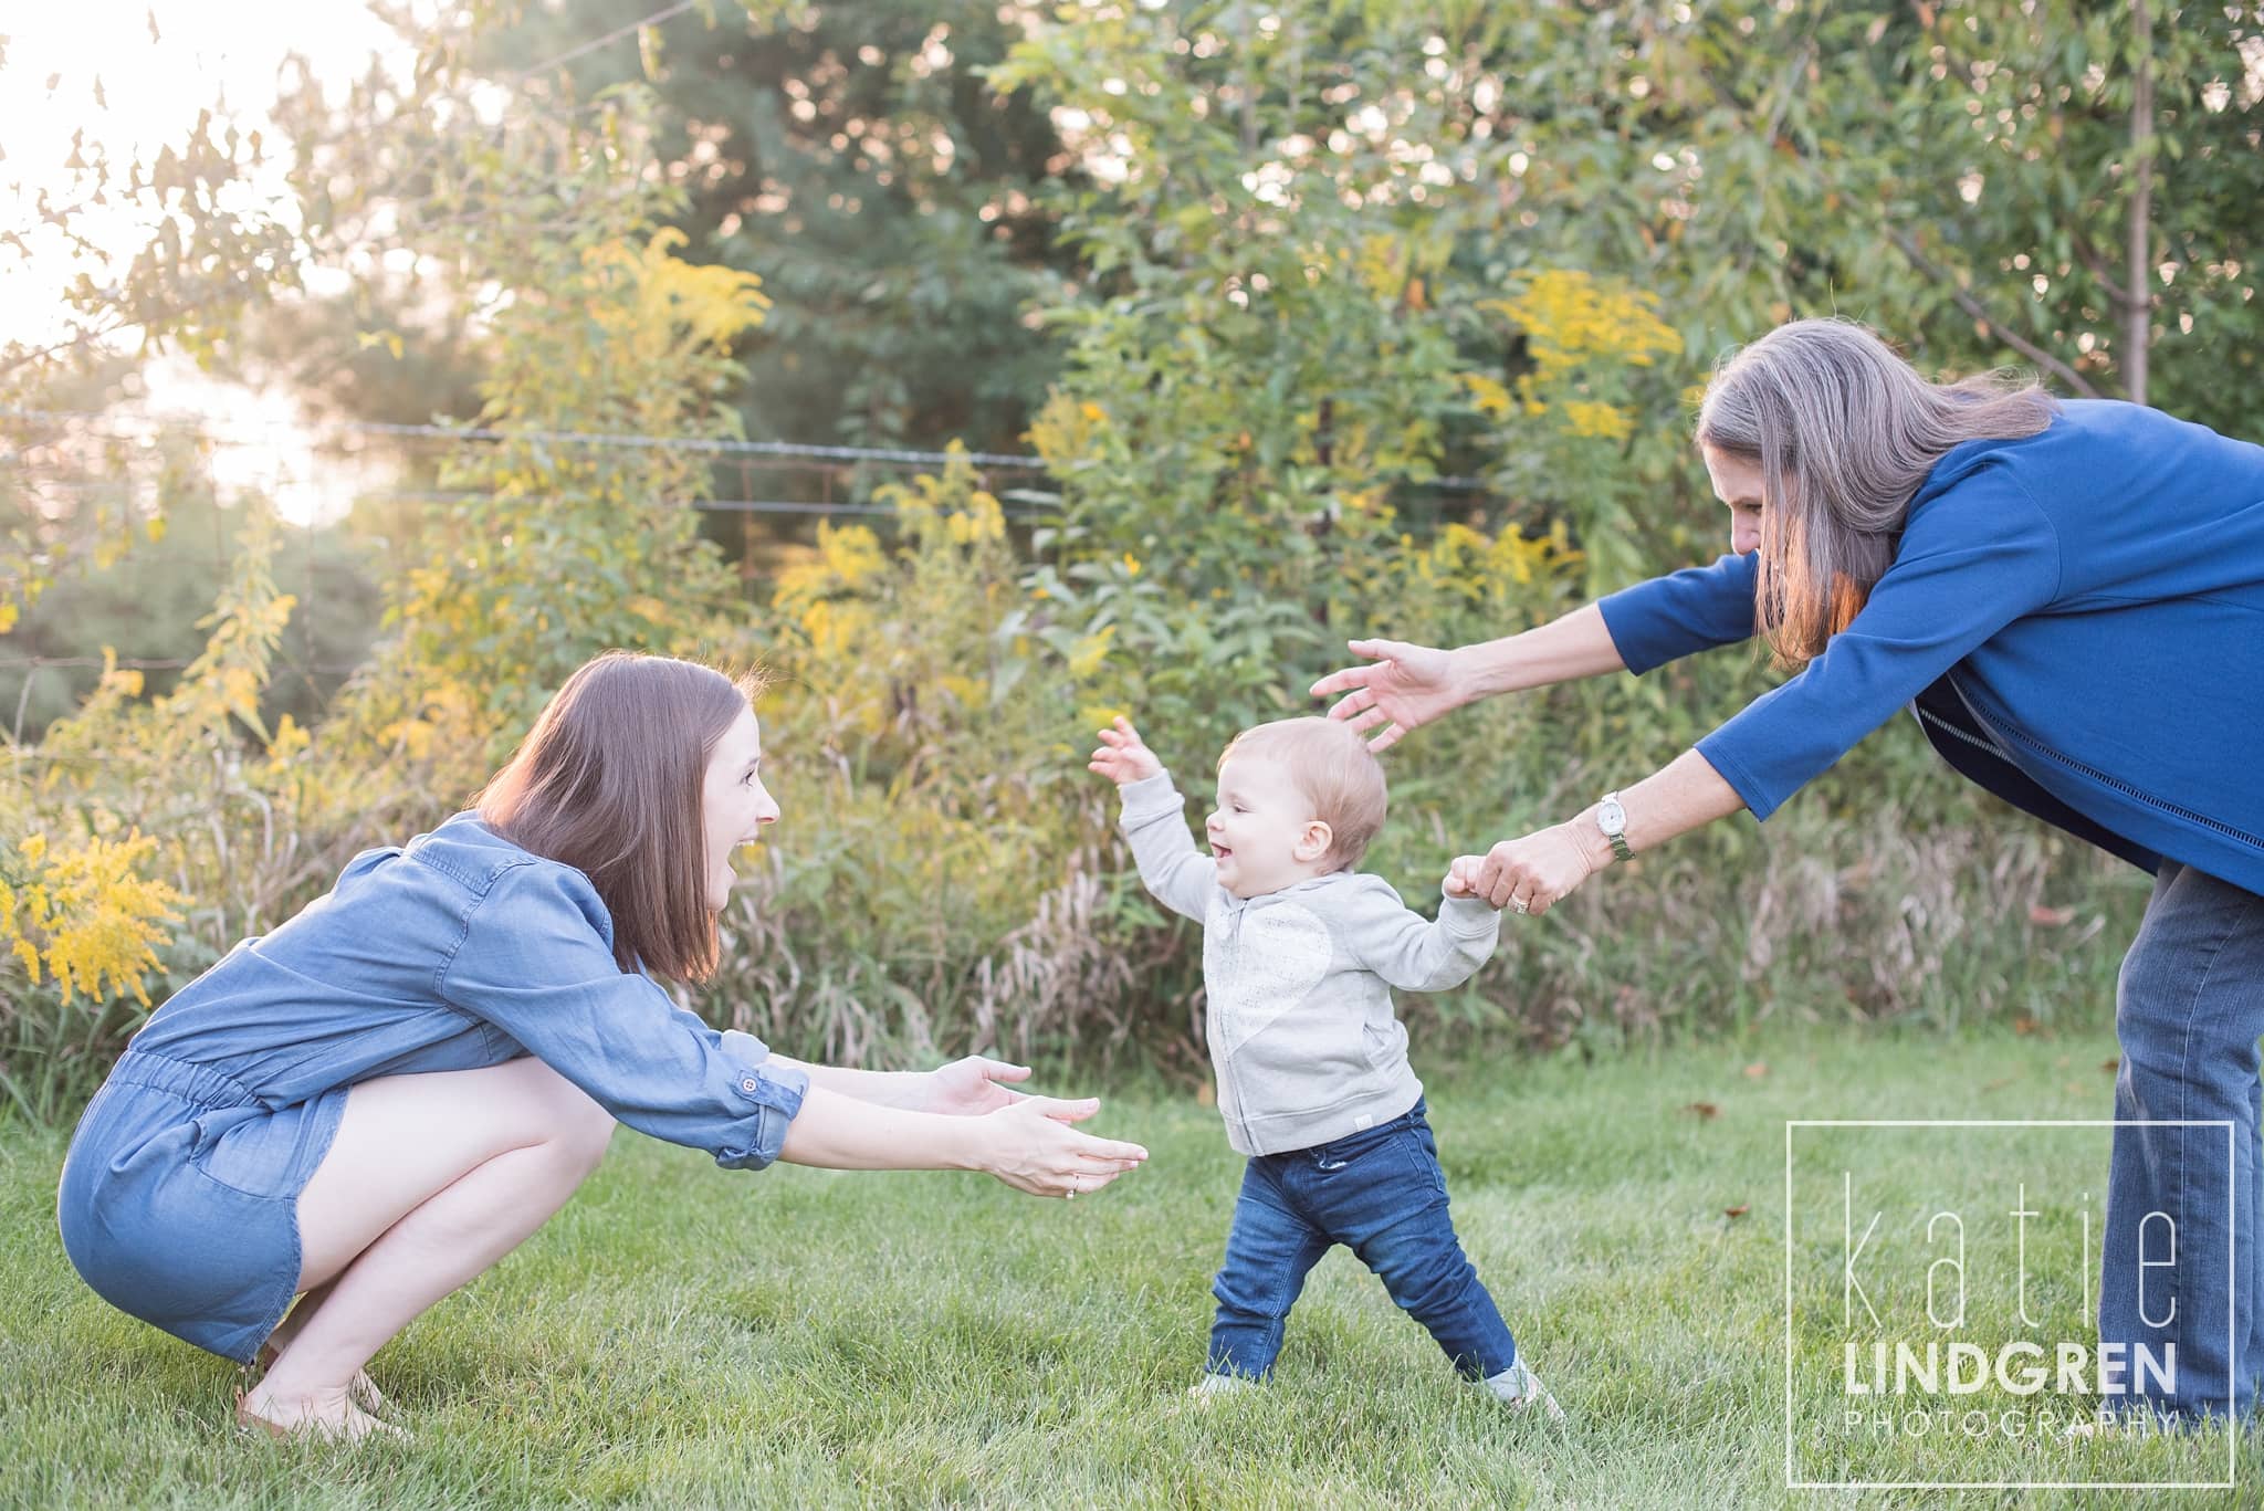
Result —
<instances>
[{"instance_id":1,"label":"straight brown hair of the crouching woman in denim","mask_svg":"<svg viewBox=\"0 0 2264 1511\"><path fill-rule=\"evenodd\" d=\"M609 650L566 677L475 797L489 829L591 879L625 972L715 972L706 763L756 693L754 673Z\"/></svg>"}]
</instances>

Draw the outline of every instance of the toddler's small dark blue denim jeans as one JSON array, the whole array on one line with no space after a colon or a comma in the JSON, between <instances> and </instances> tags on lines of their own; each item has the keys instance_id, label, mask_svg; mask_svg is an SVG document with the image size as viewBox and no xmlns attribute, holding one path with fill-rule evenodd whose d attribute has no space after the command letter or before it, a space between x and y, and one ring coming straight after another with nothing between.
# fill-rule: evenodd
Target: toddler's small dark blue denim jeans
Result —
<instances>
[{"instance_id":1,"label":"toddler's small dark blue denim jeans","mask_svg":"<svg viewBox=\"0 0 2264 1511\"><path fill-rule=\"evenodd\" d=\"M1288 1309L1331 1244L1377 1271L1392 1300L1472 1380L1517 1361L1517 1341L1453 1237L1447 1178L1417 1101L1406 1115L1333 1144L1250 1160L1227 1262L1211 1282L1214 1375L1263 1380L1272 1371Z\"/></svg>"}]
</instances>

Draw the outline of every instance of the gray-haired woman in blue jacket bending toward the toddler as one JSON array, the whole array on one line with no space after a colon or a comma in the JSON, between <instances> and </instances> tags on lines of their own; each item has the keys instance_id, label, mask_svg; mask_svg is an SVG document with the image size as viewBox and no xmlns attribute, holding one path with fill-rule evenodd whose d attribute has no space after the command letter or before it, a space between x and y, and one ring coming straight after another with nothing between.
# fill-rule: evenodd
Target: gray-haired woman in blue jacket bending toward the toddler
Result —
<instances>
[{"instance_id":1,"label":"gray-haired woman in blue jacket bending toward the toddler","mask_svg":"<svg viewBox=\"0 0 2264 1511\"><path fill-rule=\"evenodd\" d=\"M1372 664L1313 693L1345 693L1331 714L1386 748L1476 698L1752 634L1798 668L1664 770L1494 845L1478 890L1517 913L1739 809L1766 820L1906 705L1958 772L2151 870L2115 1115L2237 1137L2117 1126L2099 1332L2176 1343L2151 1407L2246 1411L2264 1371L2264 449L2130 403L1927 383L1838 319L1725 358L1698 449L1732 555L1485 646L1354 641ZM2142 1266L2153 1217L2176 1244L2158 1226Z\"/></svg>"}]
</instances>

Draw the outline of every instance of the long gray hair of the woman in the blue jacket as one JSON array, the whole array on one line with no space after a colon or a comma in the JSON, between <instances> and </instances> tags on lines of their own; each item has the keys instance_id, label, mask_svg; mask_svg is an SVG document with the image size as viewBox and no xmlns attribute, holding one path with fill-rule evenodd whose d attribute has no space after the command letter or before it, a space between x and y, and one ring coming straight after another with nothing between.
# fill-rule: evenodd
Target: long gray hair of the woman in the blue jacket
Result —
<instances>
[{"instance_id":1,"label":"long gray hair of the woman in the blue jacket","mask_svg":"<svg viewBox=\"0 0 2264 1511\"><path fill-rule=\"evenodd\" d=\"M2017 372L1929 383L1852 319L1795 319L1723 356L1698 444L1761 469L1755 628L1777 659L1809 661L1856 616L1952 446L2035 435L2056 408Z\"/></svg>"}]
</instances>

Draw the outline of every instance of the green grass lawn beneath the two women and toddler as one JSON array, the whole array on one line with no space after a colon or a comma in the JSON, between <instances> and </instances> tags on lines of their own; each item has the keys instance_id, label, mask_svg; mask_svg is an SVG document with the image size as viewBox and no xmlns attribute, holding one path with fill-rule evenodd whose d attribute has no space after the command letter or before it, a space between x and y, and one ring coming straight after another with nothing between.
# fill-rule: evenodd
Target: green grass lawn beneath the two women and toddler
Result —
<instances>
[{"instance_id":1,"label":"green grass lawn beneath the two women and toddler","mask_svg":"<svg viewBox=\"0 0 2264 1511\"><path fill-rule=\"evenodd\" d=\"M231 1366L70 1273L61 1139L0 1133L0 1500L1850 1504L1786 1491L1786 1119L2108 1117L2112 1053L2106 1033L1845 1031L1433 1074L1465 1246L1562 1427L1463 1386L1343 1250L1275 1384L1191 1402L1238 1160L1209 1108L1150 1094L1096 1124L1150 1167L1078 1203L976 1176L738 1176L620 1130L566 1212L374 1361L414 1445L254 1443L229 1427ZM2096 1169L2069 1149L2056 1169L2096 1189L2103 1142ZM1895 1192L1893 1169L1872 1180ZM1800 1405L1832 1402L1804 1382ZM2019 1479L2210 1479L2226 1443L1888 1436L1804 1468L1936 1479L1983 1457ZM2253 1470L2248 1439L2237 1491L1861 1500L2257 1504Z\"/></svg>"}]
</instances>

